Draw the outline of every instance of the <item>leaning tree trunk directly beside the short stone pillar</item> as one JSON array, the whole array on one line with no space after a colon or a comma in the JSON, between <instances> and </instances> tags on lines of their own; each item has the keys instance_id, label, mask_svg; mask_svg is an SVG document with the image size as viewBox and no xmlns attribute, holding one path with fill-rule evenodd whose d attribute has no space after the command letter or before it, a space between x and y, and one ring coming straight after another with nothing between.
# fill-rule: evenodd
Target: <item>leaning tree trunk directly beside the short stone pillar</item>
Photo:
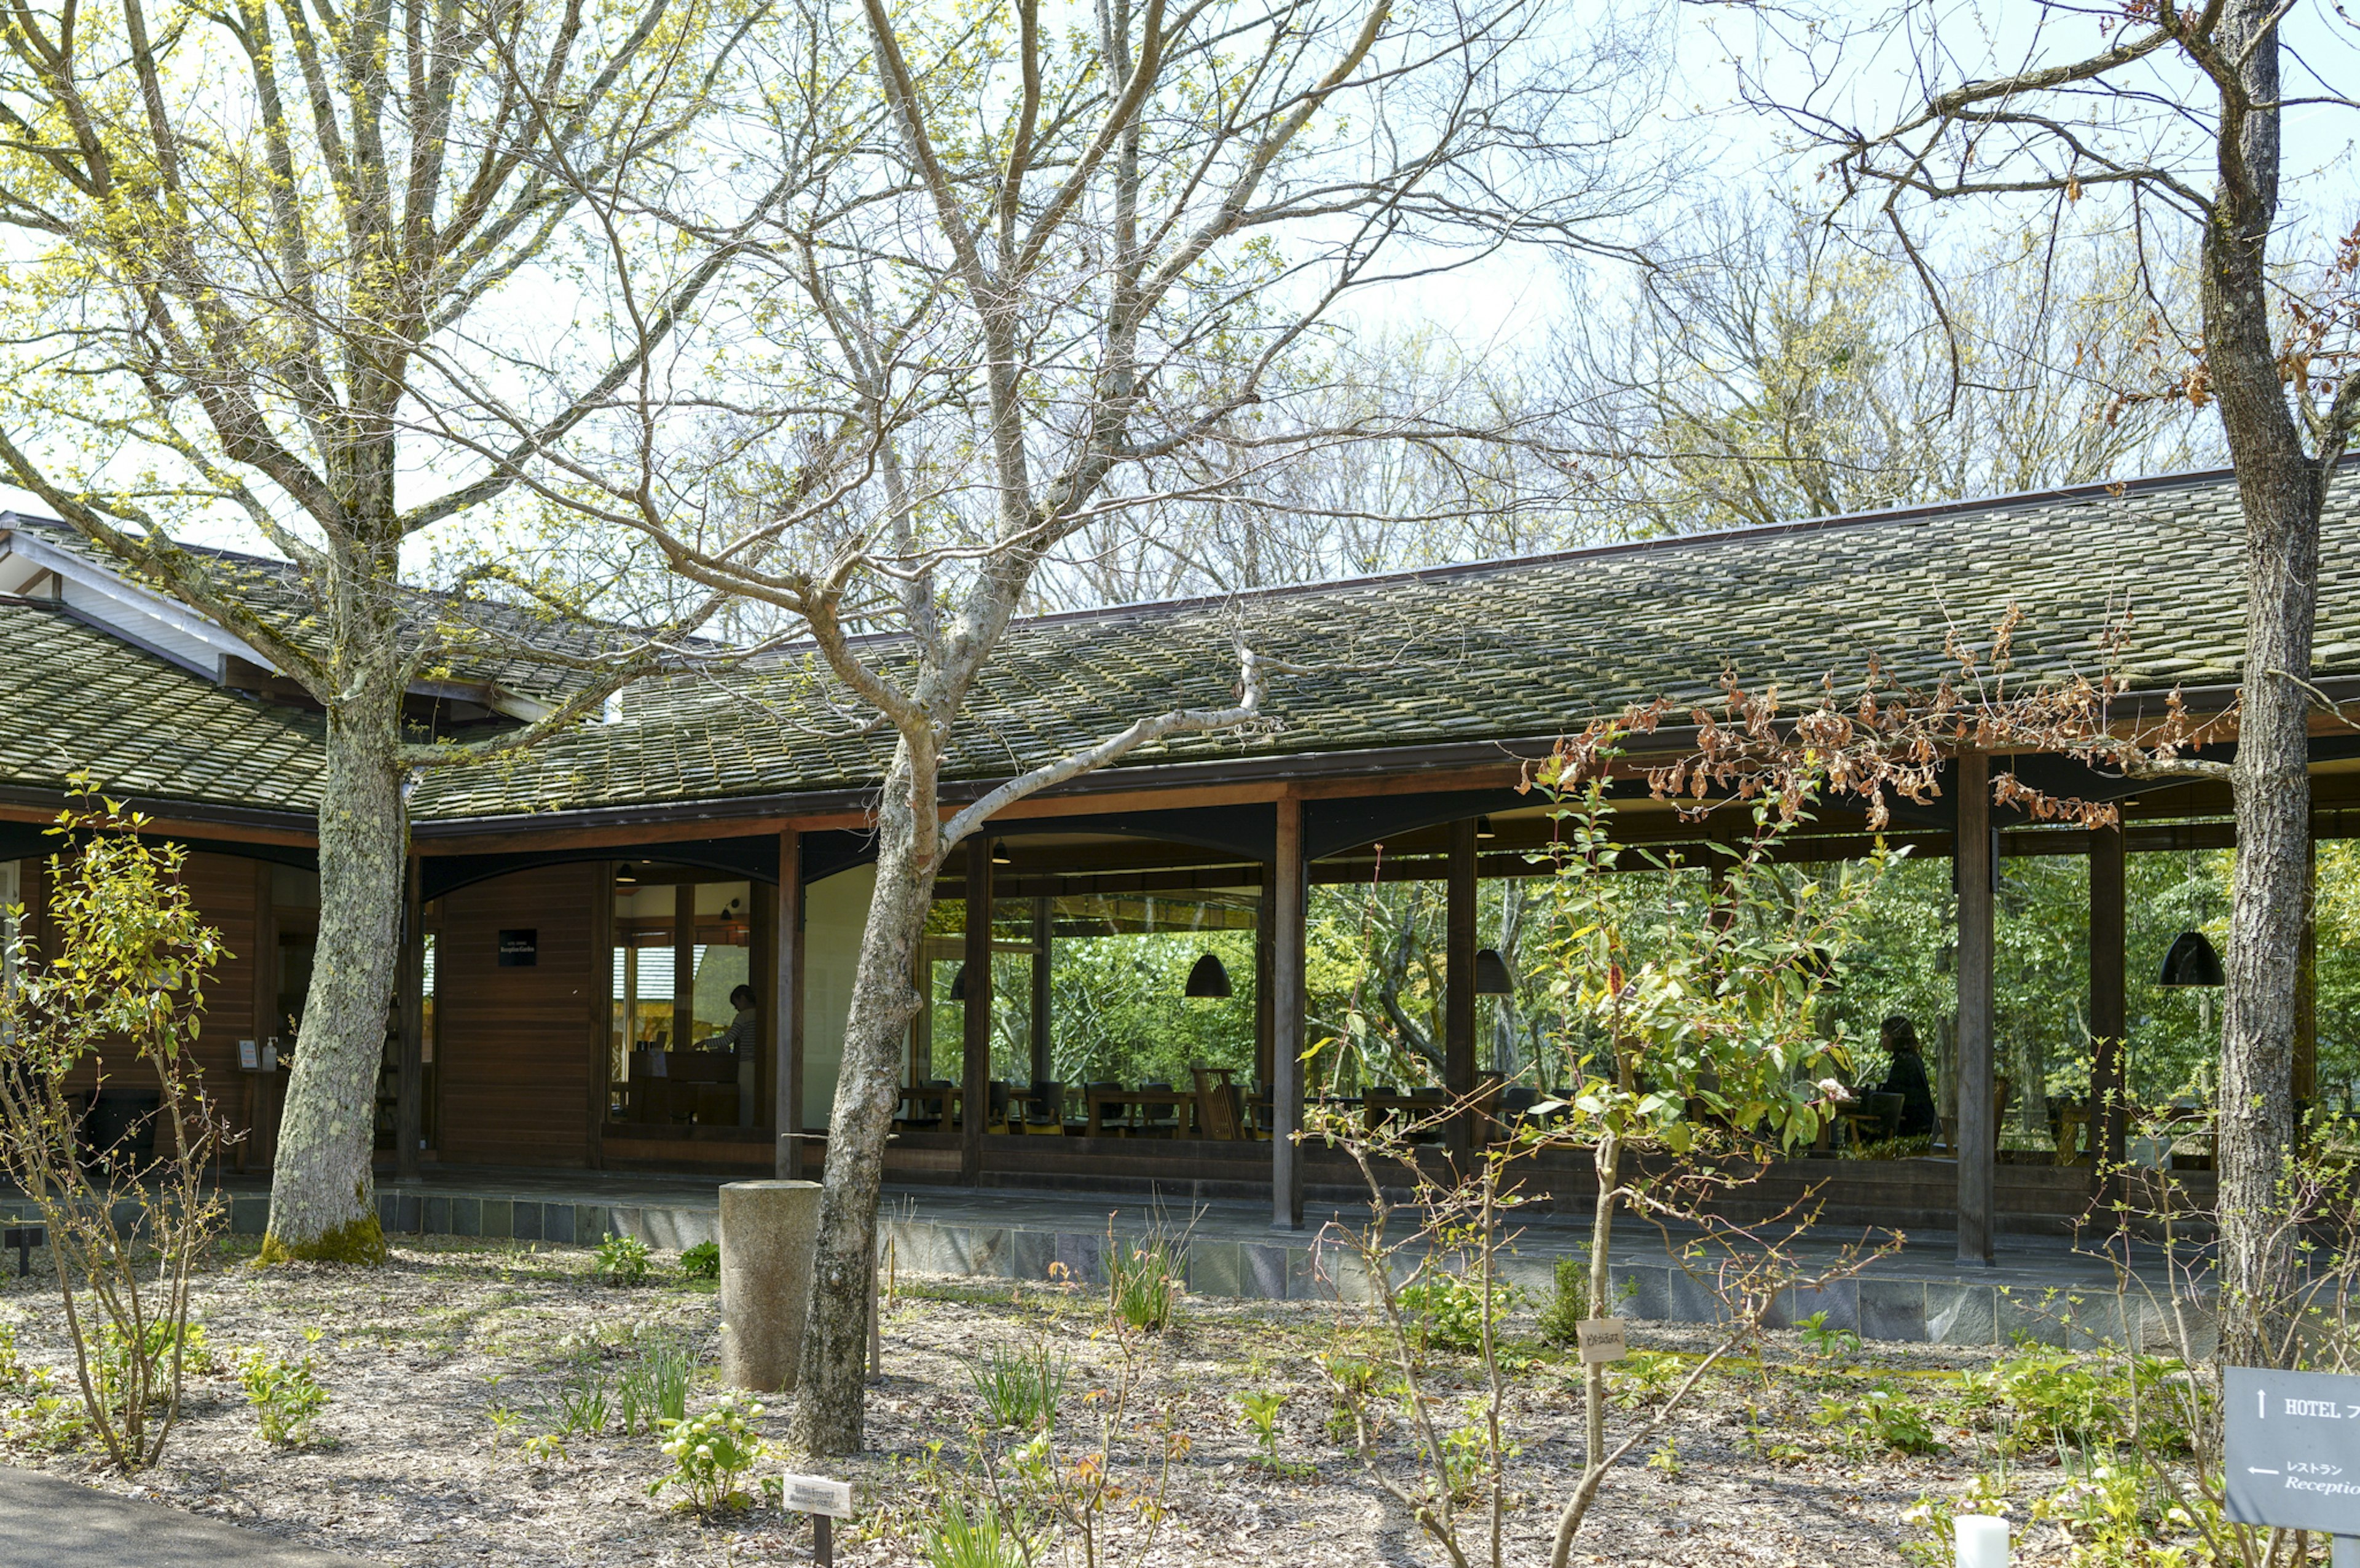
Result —
<instances>
[{"instance_id":1,"label":"leaning tree trunk directly beside the short stone pillar","mask_svg":"<svg viewBox=\"0 0 2360 1568\"><path fill-rule=\"evenodd\" d=\"M935 870L916 846L911 766L897 757L878 811L878 884L861 929L861 960L845 1016L845 1059L828 1118L828 1170L819 1193L812 1316L802 1330L793 1438L812 1455L859 1452L866 1419L868 1273L876 1269L885 1139L902 1099L902 1045L920 997L911 960L935 898ZM932 790L925 790L932 811ZM970 1103L965 1115L982 1115Z\"/></svg>"}]
</instances>

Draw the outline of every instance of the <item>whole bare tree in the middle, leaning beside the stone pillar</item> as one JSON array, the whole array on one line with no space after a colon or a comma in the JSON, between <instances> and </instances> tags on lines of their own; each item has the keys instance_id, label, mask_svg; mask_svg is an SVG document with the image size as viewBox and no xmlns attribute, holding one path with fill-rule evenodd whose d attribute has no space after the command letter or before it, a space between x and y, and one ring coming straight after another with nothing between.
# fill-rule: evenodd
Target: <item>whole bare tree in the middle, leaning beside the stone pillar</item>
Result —
<instances>
[{"instance_id":1,"label":"whole bare tree in the middle, leaning beside the stone pillar","mask_svg":"<svg viewBox=\"0 0 2360 1568\"><path fill-rule=\"evenodd\" d=\"M1654 57L1612 17L1572 38L1539 0L1104 0L1067 24L1034 0L779 12L769 144L743 158L802 174L762 245L774 370L748 368L713 436L741 488L694 526L609 509L805 630L795 670L880 738L795 1415L814 1452L861 1441L911 946L946 856L1140 745L1265 722L1277 667L1241 622L1232 689L1173 693L944 813L946 762L1005 757L961 707L1043 561L1095 519L1260 483L1317 443L1444 439L1414 406L1336 429L1272 410L1338 302L1501 245L1617 243L1657 184L1624 146Z\"/></svg>"}]
</instances>

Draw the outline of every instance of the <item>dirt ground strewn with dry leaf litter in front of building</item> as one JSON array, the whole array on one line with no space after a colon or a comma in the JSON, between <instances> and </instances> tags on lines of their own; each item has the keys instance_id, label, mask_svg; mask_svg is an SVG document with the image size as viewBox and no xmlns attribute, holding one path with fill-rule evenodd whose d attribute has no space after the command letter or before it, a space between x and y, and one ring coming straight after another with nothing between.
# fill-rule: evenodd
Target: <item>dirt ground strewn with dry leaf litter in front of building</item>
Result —
<instances>
[{"instance_id":1,"label":"dirt ground strewn with dry leaf litter in front of building","mask_svg":"<svg viewBox=\"0 0 2360 1568\"><path fill-rule=\"evenodd\" d=\"M14 1273L14 1271L9 1271ZM0 1316L28 1365L68 1368L61 1313L47 1280L7 1280ZM609 1379L651 1337L680 1335L699 1356L691 1410L717 1396L717 1299L656 1259L642 1285L609 1285L581 1250L512 1243L406 1240L382 1269L276 1269L257 1273L224 1247L198 1290L198 1320L215 1370L189 1379L186 1410L163 1464L123 1478L90 1450L57 1450L21 1386L0 1403L0 1445L12 1464L83 1478L215 1518L380 1563L663 1563L734 1566L809 1561L809 1528L767 1502L699 1518L675 1493L649 1495L670 1471L651 1436L552 1434L559 1391ZM838 1535L843 1563L925 1563L923 1528L944 1488L975 1488L982 1401L970 1368L991 1346L1041 1349L1069 1365L1062 1434L1079 1438L1107 1408L1114 1346L1100 1292L1010 1290L972 1280L899 1278L885 1316L885 1377L871 1386L871 1452L809 1464L859 1483L861 1516ZM1532 1332L1529 1320L1517 1325ZM307 1339L307 1332L312 1339ZM1657 1351L1694 1351L1694 1332L1635 1325ZM1407 1511L1326 1429L1333 1398L1322 1351L1350 1344L1331 1309L1315 1304L1185 1297L1173 1325L1145 1342L1140 1382L1123 1412L1112 1471L1123 1497L1104 1514L1104 1563L1440 1563ZM330 1403L304 1443L271 1445L241 1391L234 1358L262 1349L314 1356ZM1817 1351L1817 1353L1815 1353ZM1517 1346L1508 1398L1520 1452L1506 1514L1508 1559L1546 1563L1555 1507L1579 1455L1579 1368L1536 1339ZM1926 1346L1817 1346L1794 1335L1763 1363L1709 1379L1607 1483L1576 1540L1586 1563L1697 1568L1897 1563L1923 1540L1905 1516L1926 1495L1954 1495L1992 1464L1992 1438L1942 1396L1975 1353ZM1987 1361L1987 1356L1985 1356ZM1673 1365L1673 1363L1657 1363ZM1435 1377L1477 1391L1473 1358L1437 1353ZM1923 1389L1940 1452L1871 1452L1857 1434L1815 1419L1829 1391L1883 1379ZM1617 1372L1643 1419L1643 1377ZM1279 1394L1279 1469L1241 1412L1246 1394ZM1454 1396L1456 1398L1456 1396ZM784 1445L786 1401L760 1427ZM998 1445L1017 1438L1003 1434ZM1168 1471L1156 1462L1173 1455ZM776 1474L791 1457L767 1460ZM2032 1467L2037 1469L2037 1464ZM1159 1478L1161 1476L1161 1478ZM1149 1507L1161 1497L1161 1509ZM1482 1528L1468 1526L1475 1547ZM2018 1561L2063 1561L2039 1530ZM1067 1533L1064 1540L1071 1540ZM2051 1542L2051 1547L2060 1544ZM1060 1561L1050 1551L1043 1561ZM1069 1561L1081 1561L1079 1551Z\"/></svg>"}]
</instances>

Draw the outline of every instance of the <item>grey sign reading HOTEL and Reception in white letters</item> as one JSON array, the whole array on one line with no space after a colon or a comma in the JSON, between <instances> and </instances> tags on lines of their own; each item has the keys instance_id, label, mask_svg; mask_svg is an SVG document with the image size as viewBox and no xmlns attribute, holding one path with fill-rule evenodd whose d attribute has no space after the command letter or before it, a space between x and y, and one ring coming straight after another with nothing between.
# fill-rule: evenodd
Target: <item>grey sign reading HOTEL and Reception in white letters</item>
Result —
<instances>
[{"instance_id":1,"label":"grey sign reading HOTEL and Reception in white letters","mask_svg":"<svg viewBox=\"0 0 2360 1568\"><path fill-rule=\"evenodd\" d=\"M2223 1368L2228 1516L2360 1535L2360 1377Z\"/></svg>"}]
</instances>

